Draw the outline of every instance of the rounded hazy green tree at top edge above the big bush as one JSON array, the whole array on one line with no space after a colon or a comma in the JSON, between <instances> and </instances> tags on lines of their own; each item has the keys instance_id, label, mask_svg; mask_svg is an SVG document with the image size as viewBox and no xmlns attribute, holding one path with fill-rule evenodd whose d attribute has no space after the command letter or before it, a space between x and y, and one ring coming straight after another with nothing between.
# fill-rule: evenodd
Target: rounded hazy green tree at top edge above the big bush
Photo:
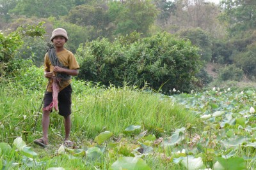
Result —
<instances>
[{"instance_id":1,"label":"rounded hazy green tree at top edge above the big bush","mask_svg":"<svg viewBox=\"0 0 256 170\"><path fill-rule=\"evenodd\" d=\"M150 0L113 1L108 6L115 34L125 35L136 31L147 35L157 16L156 6Z\"/></svg>"}]
</instances>

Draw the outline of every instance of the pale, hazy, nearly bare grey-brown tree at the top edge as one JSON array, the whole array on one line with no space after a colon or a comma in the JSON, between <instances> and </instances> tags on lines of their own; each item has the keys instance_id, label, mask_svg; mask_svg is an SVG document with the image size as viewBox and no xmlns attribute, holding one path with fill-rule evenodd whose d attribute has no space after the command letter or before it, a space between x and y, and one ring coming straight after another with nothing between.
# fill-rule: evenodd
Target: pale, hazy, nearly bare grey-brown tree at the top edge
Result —
<instances>
[{"instance_id":1,"label":"pale, hazy, nearly bare grey-brown tree at the top edge","mask_svg":"<svg viewBox=\"0 0 256 170\"><path fill-rule=\"evenodd\" d=\"M177 0L175 8L166 25L168 32L200 27L214 37L225 36L225 25L218 20L220 8L216 4L205 3L205 0Z\"/></svg>"}]
</instances>

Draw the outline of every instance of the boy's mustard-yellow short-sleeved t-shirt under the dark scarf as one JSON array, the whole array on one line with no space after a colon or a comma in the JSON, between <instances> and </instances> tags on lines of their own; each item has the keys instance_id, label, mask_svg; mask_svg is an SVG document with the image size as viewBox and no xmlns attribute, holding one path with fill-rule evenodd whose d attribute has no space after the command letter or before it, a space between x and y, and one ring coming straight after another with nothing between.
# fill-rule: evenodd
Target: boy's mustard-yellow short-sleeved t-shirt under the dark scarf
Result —
<instances>
[{"instance_id":1,"label":"boy's mustard-yellow short-sleeved t-shirt under the dark scarf","mask_svg":"<svg viewBox=\"0 0 256 170\"><path fill-rule=\"evenodd\" d=\"M74 54L66 49L62 50L61 52L56 53L58 59L63 64L63 66L68 67L68 69L79 69L79 65L76 61ZM44 57L44 71L52 72L53 76L55 73L53 71L53 66L51 60L49 59L48 53L45 54ZM65 87L70 85L71 80L61 80L59 83L60 90L63 90ZM52 80L49 83L47 88L47 92L52 92Z\"/></svg>"}]
</instances>

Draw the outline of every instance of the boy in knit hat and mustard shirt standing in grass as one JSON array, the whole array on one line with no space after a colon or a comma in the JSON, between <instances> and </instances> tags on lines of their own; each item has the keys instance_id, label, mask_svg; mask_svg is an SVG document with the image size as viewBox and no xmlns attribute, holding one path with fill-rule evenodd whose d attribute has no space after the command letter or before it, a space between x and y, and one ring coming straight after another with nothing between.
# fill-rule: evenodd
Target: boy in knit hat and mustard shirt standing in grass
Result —
<instances>
[{"instance_id":1,"label":"boy in knit hat and mustard shirt standing in grass","mask_svg":"<svg viewBox=\"0 0 256 170\"><path fill-rule=\"evenodd\" d=\"M54 48L44 57L44 76L49 78L49 85L44 96L42 117L43 137L35 139L34 143L40 146L48 145L48 129L52 108L58 110L64 118L65 139L64 145L73 146L69 140L71 127L71 76L77 76L79 65L72 52L64 48L68 41L67 31L62 28L52 31L51 41Z\"/></svg>"}]
</instances>

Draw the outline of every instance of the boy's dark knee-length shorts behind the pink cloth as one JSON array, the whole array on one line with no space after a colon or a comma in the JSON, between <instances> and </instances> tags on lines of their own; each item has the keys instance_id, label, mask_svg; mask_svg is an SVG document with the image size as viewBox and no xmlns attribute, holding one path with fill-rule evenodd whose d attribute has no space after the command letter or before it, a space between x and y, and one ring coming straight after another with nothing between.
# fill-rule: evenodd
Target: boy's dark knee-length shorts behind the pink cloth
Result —
<instances>
[{"instance_id":1,"label":"boy's dark knee-length shorts behind the pink cloth","mask_svg":"<svg viewBox=\"0 0 256 170\"><path fill-rule=\"evenodd\" d=\"M65 89L61 90L58 94L59 114L67 117L71 114L71 94L72 87L68 85ZM52 103L52 92L46 92L44 96L44 108Z\"/></svg>"}]
</instances>

